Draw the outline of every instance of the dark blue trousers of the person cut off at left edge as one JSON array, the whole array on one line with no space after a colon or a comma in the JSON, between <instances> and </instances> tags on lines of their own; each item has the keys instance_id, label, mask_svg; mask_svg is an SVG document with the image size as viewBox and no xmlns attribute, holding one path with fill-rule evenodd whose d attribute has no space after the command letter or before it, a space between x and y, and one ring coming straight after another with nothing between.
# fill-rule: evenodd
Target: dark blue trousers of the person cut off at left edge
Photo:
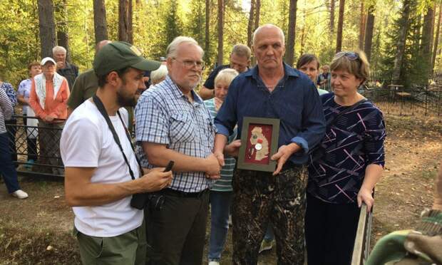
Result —
<instances>
[{"instance_id":1,"label":"dark blue trousers of the person cut off at left edge","mask_svg":"<svg viewBox=\"0 0 442 265\"><path fill-rule=\"evenodd\" d=\"M4 184L9 193L20 189L16 168L11 160L9 137L7 133L0 134L0 175L3 176Z\"/></svg>"}]
</instances>

